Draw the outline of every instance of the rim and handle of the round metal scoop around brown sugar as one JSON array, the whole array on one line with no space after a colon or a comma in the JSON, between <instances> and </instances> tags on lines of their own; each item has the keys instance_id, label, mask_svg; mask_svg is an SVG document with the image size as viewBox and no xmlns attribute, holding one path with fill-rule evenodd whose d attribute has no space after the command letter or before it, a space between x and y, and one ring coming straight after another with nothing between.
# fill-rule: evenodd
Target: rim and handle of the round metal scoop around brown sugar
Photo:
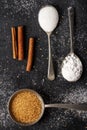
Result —
<instances>
[{"instance_id":1,"label":"rim and handle of the round metal scoop around brown sugar","mask_svg":"<svg viewBox=\"0 0 87 130\"><path fill-rule=\"evenodd\" d=\"M15 97L15 95L17 95L18 93L20 92L23 92L23 91L30 91L30 92L33 92L37 97L38 99L40 100L41 102L41 106L42 106L42 109L41 109L41 114L39 116L39 118L35 121L35 122L32 122L32 123L21 123L21 122L17 122L13 116L12 116L12 113L10 111L10 105L11 105L11 102L12 102L12 99ZM33 103L33 101L32 101ZM20 125L33 125L35 123L37 123L43 116L44 114L44 110L45 108L64 108L64 109L73 109L73 110L78 110L78 111L87 111L87 105L85 104L63 104L63 103L56 103L56 104L45 104L42 97L34 90L32 89L21 89L21 90L18 90L16 91L12 96L11 98L9 99L9 102L8 102L8 112L9 112L9 115L11 117L11 119L17 123L17 124L20 124Z\"/></svg>"}]
</instances>

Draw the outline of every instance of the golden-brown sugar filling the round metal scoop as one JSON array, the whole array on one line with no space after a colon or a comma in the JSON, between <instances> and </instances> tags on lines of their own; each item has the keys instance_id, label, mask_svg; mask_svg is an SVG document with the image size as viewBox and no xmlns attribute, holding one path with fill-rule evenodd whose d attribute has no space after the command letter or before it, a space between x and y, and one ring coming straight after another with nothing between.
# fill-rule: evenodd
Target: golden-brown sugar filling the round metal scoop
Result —
<instances>
[{"instance_id":1,"label":"golden-brown sugar filling the round metal scoop","mask_svg":"<svg viewBox=\"0 0 87 130\"><path fill-rule=\"evenodd\" d=\"M34 123L41 115L41 101L31 91L20 91L16 94L10 104L12 117L20 123Z\"/></svg>"}]
</instances>

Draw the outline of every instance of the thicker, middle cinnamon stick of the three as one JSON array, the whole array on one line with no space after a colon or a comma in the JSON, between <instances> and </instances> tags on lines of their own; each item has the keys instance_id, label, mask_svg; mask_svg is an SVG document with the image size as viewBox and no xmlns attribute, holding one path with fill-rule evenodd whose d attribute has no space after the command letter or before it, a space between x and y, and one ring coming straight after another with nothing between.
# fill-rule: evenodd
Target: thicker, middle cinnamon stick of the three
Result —
<instances>
[{"instance_id":1,"label":"thicker, middle cinnamon stick of the three","mask_svg":"<svg viewBox=\"0 0 87 130\"><path fill-rule=\"evenodd\" d=\"M18 60L24 59L23 26L18 26Z\"/></svg>"}]
</instances>

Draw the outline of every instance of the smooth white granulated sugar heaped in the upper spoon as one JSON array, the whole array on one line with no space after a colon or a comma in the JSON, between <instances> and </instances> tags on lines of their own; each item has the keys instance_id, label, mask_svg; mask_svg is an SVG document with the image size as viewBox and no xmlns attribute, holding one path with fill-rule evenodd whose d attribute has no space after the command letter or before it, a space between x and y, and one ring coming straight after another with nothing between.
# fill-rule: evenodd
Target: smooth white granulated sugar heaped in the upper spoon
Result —
<instances>
[{"instance_id":1,"label":"smooth white granulated sugar heaped in the upper spoon","mask_svg":"<svg viewBox=\"0 0 87 130\"><path fill-rule=\"evenodd\" d=\"M39 12L38 21L45 32L52 32L59 21L57 10L53 6L43 7Z\"/></svg>"}]
</instances>

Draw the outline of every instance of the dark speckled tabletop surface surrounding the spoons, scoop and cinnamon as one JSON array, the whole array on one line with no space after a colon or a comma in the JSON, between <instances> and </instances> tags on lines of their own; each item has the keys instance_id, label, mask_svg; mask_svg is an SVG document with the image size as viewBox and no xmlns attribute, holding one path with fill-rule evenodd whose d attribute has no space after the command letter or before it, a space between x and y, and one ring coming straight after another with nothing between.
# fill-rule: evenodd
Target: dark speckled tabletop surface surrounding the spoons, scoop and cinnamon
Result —
<instances>
[{"instance_id":1,"label":"dark speckled tabletop surface surrounding the spoons, scoop and cinnamon","mask_svg":"<svg viewBox=\"0 0 87 130\"><path fill-rule=\"evenodd\" d=\"M38 25L38 11L46 4L59 11L60 22L51 36L52 54L56 79L47 79L47 36ZM75 8L76 54L81 58L84 72L76 83L62 78L60 68L69 53L69 28L67 8ZM20 62L12 59L11 26L24 25L26 56ZM34 66L25 71L28 38L35 42ZM7 112L7 102L13 92L31 88L41 94L45 103L87 102L87 0L0 0L0 130L86 130L87 112L47 109L42 119L34 126L21 127L14 124Z\"/></svg>"}]
</instances>

